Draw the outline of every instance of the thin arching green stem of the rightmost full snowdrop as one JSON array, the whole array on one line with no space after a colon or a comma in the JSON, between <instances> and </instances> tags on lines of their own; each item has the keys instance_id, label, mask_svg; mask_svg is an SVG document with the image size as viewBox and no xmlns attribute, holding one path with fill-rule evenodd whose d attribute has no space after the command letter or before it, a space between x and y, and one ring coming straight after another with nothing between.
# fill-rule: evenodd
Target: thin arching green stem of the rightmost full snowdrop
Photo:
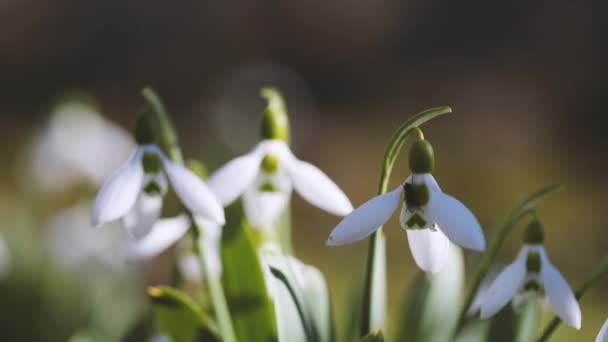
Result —
<instances>
[{"instance_id":1,"label":"thin arching green stem of the rightmost full snowdrop","mask_svg":"<svg viewBox=\"0 0 608 342\"><path fill-rule=\"evenodd\" d=\"M462 304L462 308L460 310L460 314L458 315L458 320L456 323L456 329L454 330L454 336L457 336L462 327L464 326L466 320L466 313L473 302L473 298L477 293L481 282L484 277L488 274L488 271L494 264L498 251L502 246L503 242L509 236L515 225L526 215L534 214L534 207L540 200L542 200L548 194L560 190L562 186L560 184L552 184L545 186L530 196L528 196L521 204L516 207L507 217L503 225L498 230L498 234L494 236L494 239L490 243L490 247L487 249L486 253L483 255L479 267L477 268L477 272L473 276L473 282L471 283L471 287L466 294L465 300Z\"/></svg>"}]
</instances>

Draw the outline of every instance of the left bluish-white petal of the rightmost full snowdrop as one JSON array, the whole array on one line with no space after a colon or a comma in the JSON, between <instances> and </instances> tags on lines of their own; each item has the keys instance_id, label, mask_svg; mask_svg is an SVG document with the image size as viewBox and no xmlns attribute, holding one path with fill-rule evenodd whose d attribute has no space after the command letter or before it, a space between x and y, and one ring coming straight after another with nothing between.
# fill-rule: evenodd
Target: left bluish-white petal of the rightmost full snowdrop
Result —
<instances>
[{"instance_id":1,"label":"left bluish-white petal of the rightmost full snowdrop","mask_svg":"<svg viewBox=\"0 0 608 342\"><path fill-rule=\"evenodd\" d=\"M519 252L517 259L505 267L496 277L492 285L485 291L481 298L481 319L486 319L496 314L515 296L517 290L522 286L526 276L526 258L528 248L524 247Z\"/></svg>"}]
</instances>

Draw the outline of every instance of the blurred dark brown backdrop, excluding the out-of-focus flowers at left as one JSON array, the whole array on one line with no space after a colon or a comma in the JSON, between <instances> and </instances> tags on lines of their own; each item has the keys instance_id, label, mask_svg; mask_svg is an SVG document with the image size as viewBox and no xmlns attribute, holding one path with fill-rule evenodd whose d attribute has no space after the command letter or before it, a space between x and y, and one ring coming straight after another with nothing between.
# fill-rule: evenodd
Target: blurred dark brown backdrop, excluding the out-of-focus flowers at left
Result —
<instances>
[{"instance_id":1,"label":"blurred dark brown backdrop, excluding the out-of-focus flowers at left","mask_svg":"<svg viewBox=\"0 0 608 342\"><path fill-rule=\"evenodd\" d=\"M539 213L550 256L576 286L608 250L605 13L591 1L0 0L5 207L28 197L13 165L67 91L87 92L130 129L139 89L152 85L186 153L213 169L253 146L258 90L277 86L295 153L355 205L374 194L393 130L450 105L454 114L424 129L444 190L490 237L526 194L566 184ZM392 184L407 173L402 157ZM366 243L325 247L338 219L300 199L294 219L298 255L325 272L344 304L363 275ZM396 218L386 230L396 315L416 269ZM515 235L504 261L521 228ZM607 285L582 301L583 332L561 328L563 341L595 336L608 316Z\"/></svg>"}]
</instances>

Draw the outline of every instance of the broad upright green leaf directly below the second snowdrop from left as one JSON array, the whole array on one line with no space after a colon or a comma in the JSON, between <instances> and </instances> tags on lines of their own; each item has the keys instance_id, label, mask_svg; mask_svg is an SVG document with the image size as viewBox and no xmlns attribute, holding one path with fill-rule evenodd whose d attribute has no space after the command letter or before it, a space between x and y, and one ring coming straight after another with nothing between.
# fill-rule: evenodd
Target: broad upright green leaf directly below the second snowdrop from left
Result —
<instances>
[{"instance_id":1,"label":"broad upright green leaf directly below the second snowdrop from left","mask_svg":"<svg viewBox=\"0 0 608 342\"><path fill-rule=\"evenodd\" d=\"M271 299L252 228L242 218L241 203L226 208L222 233L222 284L237 341L276 341Z\"/></svg>"}]
</instances>

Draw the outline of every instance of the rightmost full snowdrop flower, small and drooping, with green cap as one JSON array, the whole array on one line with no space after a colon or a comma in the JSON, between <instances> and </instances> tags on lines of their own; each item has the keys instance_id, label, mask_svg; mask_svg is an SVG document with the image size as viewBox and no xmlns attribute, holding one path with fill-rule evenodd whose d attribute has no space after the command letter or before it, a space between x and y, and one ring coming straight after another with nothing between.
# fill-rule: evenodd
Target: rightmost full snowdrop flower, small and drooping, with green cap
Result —
<instances>
[{"instance_id":1,"label":"rightmost full snowdrop flower, small and drooping, with green cap","mask_svg":"<svg viewBox=\"0 0 608 342\"><path fill-rule=\"evenodd\" d=\"M581 309L570 286L549 260L543 247L543 228L534 220L526 228L525 244L515 261L490 285L481 304L481 318L493 316L509 301L517 308L528 299L546 297L566 324L581 328Z\"/></svg>"}]
</instances>

